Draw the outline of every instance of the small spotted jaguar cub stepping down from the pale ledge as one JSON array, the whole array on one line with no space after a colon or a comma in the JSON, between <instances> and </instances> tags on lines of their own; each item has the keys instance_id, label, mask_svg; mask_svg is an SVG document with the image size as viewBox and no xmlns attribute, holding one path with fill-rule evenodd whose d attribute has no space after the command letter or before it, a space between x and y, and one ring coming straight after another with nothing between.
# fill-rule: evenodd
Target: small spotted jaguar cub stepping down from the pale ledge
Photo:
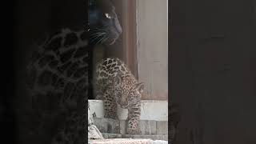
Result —
<instances>
[{"instance_id":1,"label":"small spotted jaguar cub stepping down from the pale ledge","mask_svg":"<svg viewBox=\"0 0 256 144\"><path fill-rule=\"evenodd\" d=\"M105 118L117 118L117 105L128 109L127 134L138 134L144 84L138 82L124 62L106 58L96 67L96 98L103 99Z\"/></svg>"}]
</instances>

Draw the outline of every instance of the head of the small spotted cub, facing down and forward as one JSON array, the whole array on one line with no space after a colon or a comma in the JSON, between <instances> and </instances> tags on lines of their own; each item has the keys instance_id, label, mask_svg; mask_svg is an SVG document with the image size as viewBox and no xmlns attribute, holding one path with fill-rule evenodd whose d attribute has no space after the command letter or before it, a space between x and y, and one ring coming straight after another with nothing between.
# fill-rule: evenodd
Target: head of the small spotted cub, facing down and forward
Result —
<instances>
[{"instance_id":1,"label":"head of the small spotted cub, facing down and forward","mask_svg":"<svg viewBox=\"0 0 256 144\"><path fill-rule=\"evenodd\" d=\"M116 93L116 102L123 109L127 109L141 101L142 92L144 89L143 82L135 82L129 76L126 78L115 78L115 84L118 89Z\"/></svg>"}]
</instances>

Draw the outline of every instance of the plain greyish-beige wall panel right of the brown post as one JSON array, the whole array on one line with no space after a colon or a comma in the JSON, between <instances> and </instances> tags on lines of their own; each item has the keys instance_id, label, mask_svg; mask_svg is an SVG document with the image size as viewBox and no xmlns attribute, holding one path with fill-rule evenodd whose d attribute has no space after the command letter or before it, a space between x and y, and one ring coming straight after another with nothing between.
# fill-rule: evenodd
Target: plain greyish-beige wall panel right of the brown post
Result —
<instances>
[{"instance_id":1,"label":"plain greyish-beige wall panel right of the brown post","mask_svg":"<svg viewBox=\"0 0 256 144\"><path fill-rule=\"evenodd\" d=\"M168 95L167 0L138 0L138 79L146 83L143 99Z\"/></svg>"}]
</instances>

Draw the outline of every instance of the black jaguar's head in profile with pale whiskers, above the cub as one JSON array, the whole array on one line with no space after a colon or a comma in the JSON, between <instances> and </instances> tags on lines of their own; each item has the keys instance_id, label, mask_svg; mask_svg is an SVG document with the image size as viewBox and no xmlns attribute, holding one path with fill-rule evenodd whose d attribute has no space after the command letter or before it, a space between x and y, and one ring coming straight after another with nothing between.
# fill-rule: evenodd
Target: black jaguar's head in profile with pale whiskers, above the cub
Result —
<instances>
[{"instance_id":1,"label":"black jaguar's head in profile with pale whiskers, above the cub","mask_svg":"<svg viewBox=\"0 0 256 144\"><path fill-rule=\"evenodd\" d=\"M89 5L90 43L112 45L122 33L115 8L110 0L90 0Z\"/></svg>"}]
</instances>

